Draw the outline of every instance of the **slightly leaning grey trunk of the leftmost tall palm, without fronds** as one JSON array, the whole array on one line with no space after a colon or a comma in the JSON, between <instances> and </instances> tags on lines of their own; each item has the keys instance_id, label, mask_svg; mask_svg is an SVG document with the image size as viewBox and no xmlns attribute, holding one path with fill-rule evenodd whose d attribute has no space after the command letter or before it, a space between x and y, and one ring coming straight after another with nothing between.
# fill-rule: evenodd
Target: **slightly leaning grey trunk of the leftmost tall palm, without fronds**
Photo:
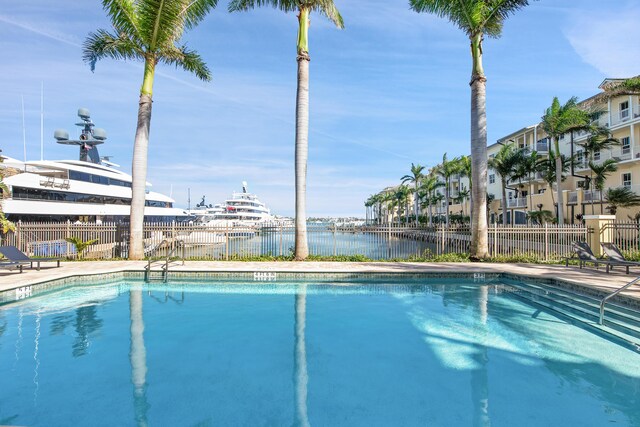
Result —
<instances>
[{"instance_id":1,"label":"slightly leaning grey trunk of the leftmost tall palm, without fronds","mask_svg":"<svg viewBox=\"0 0 640 427\"><path fill-rule=\"evenodd\" d=\"M129 214L129 259L144 258L144 205L147 185L147 154L153 94L154 59L147 59L138 104L138 126L131 165L131 211Z\"/></svg>"}]
</instances>

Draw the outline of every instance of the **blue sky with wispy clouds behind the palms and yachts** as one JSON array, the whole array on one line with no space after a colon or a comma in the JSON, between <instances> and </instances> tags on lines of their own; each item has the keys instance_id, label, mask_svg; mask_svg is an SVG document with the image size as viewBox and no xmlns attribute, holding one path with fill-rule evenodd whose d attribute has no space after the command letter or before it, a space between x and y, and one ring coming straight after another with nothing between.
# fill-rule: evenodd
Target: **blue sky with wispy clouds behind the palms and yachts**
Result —
<instances>
[{"instance_id":1,"label":"blue sky with wispy clouds behind the palms and yachts","mask_svg":"<svg viewBox=\"0 0 640 427\"><path fill-rule=\"evenodd\" d=\"M409 173L469 153L468 38L407 0L335 0L345 29L312 14L308 216L364 217L364 201ZM615 5L615 6L614 6ZM607 77L640 74L637 0L539 0L486 39L488 143L537 123L554 96L587 98ZM108 139L102 156L130 173L143 69L103 60L82 43L110 29L99 0L25 0L0 7L0 148L76 159L55 129L75 134L79 107ZM184 42L213 73L209 83L159 66L148 158L152 189L180 207L217 203L242 181L273 213L294 212L297 18L272 8L218 7Z\"/></svg>"}]
</instances>

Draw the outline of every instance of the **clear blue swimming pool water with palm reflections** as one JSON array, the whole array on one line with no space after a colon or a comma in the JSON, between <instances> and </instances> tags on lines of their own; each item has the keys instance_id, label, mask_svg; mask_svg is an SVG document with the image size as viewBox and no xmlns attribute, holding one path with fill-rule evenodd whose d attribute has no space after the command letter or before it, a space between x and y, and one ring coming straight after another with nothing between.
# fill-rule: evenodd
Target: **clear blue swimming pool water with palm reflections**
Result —
<instances>
[{"instance_id":1,"label":"clear blue swimming pool water with palm reflections","mask_svg":"<svg viewBox=\"0 0 640 427\"><path fill-rule=\"evenodd\" d=\"M640 425L640 355L464 280L118 282L0 306L0 425Z\"/></svg>"}]
</instances>

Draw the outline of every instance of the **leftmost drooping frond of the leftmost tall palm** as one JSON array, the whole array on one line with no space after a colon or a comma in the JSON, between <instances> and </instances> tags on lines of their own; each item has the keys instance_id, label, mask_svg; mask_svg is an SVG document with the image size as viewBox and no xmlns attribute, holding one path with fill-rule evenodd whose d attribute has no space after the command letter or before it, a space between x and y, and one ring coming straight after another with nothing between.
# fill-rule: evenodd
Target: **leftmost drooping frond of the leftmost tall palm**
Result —
<instances>
[{"instance_id":1,"label":"leftmost drooping frond of the leftmost tall palm","mask_svg":"<svg viewBox=\"0 0 640 427\"><path fill-rule=\"evenodd\" d=\"M96 68L96 62L104 58L118 60L144 59L144 52L139 45L129 39L124 33L119 36L105 30L89 33L82 45L82 59Z\"/></svg>"}]
</instances>

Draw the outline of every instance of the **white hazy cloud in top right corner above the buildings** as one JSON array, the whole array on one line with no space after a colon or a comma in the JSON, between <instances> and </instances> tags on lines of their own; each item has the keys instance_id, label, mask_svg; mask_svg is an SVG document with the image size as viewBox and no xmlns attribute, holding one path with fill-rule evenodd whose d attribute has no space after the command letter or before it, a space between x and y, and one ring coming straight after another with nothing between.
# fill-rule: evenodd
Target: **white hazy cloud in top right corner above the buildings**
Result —
<instances>
[{"instance_id":1,"label":"white hazy cloud in top right corner above the buildings","mask_svg":"<svg viewBox=\"0 0 640 427\"><path fill-rule=\"evenodd\" d=\"M584 62L607 77L630 77L640 73L637 41L640 8L608 8L595 13L570 12L565 36Z\"/></svg>"}]
</instances>

